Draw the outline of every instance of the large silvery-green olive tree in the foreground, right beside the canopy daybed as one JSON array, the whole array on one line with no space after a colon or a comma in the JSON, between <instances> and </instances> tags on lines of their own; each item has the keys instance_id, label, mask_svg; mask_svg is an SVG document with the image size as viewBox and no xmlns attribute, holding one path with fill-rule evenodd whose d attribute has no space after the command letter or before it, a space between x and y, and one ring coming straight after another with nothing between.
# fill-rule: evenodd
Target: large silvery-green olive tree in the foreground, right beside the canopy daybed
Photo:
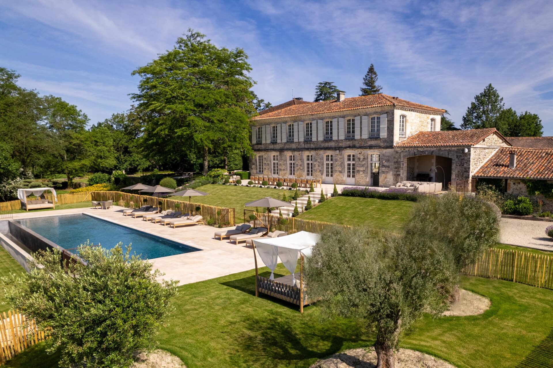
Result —
<instances>
[{"instance_id":1,"label":"large silvery-green olive tree in the foreground, right beside the canopy daybed","mask_svg":"<svg viewBox=\"0 0 553 368\"><path fill-rule=\"evenodd\" d=\"M395 366L401 334L422 313L446 309L456 275L440 243L361 228L328 230L306 262L309 294L324 314L361 319L376 332L378 368Z\"/></svg>"}]
</instances>

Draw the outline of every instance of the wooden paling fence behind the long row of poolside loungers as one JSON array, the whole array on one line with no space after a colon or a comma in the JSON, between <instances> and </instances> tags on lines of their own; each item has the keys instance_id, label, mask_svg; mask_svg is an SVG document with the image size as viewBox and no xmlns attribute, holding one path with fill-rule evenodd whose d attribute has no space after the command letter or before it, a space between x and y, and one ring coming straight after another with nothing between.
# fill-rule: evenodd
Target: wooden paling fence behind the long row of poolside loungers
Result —
<instances>
[{"instance_id":1,"label":"wooden paling fence behind the long row of poolside loungers","mask_svg":"<svg viewBox=\"0 0 553 368\"><path fill-rule=\"evenodd\" d=\"M236 213L234 208L209 206L208 204L177 201L176 199L166 199L152 196L142 196L139 194L124 192L91 192L92 201L113 201L122 207L140 207L153 206L161 207L161 210L172 209L182 213L200 214L204 217L204 222L211 225L220 224L223 227L236 225ZM161 204L159 204L161 202ZM177 207L178 205L178 207ZM196 211L200 207L200 211Z\"/></svg>"}]
</instances>

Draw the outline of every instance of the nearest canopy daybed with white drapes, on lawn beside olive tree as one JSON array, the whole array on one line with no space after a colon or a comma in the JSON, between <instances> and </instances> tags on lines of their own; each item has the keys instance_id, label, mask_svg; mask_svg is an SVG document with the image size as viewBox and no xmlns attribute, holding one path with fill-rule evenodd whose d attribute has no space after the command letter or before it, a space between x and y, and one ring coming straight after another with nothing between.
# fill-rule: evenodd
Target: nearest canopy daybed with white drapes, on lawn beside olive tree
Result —
<instances>
[{"instance_id":1,"label":"nearest canopy daybed with white drapes, on lawn beside olive tree","mask_svg":"<svg viewBox=\"0 0 553 368\"><path fill-rule=\"evenodd\" d=\"M299 232L291 235L280 236L279 238L253 239L253 257L255 260L255 296L259 292L283 299L287 302L300 306L300 312L304 312L304 306L311 304L312 300L305 293L304 285L304 258L311 255L312 247L320 239L319 234ZM271 270L269 278L259 276L257 268L257 255ZM291 272L288 276L274 278L274 270L278 259L284 267ZM300 260L299 275L295 273L296 266Z\"/></svg>"}]
</instances>

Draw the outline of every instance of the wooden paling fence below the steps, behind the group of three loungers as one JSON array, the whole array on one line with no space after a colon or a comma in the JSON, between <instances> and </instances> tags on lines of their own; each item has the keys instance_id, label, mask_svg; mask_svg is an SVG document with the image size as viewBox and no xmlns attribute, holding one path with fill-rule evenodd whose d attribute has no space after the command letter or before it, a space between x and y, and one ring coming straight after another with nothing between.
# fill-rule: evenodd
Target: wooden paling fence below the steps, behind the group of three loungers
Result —
<instances>
[{"instance_id":1,"label":"wooden paling fence below the steps, behind the group of three loungers","mask_svg":"<svg viewBox=\"0 0 553 368\"><path fill-rule=\"evenodd\" d=\"M255 217L253 220L250 219L251 215ZM275 214L255 212L251 209L244 209L244 223L254 228L269 226L270 231L273 231L273 229L281 230L288 234L301 231L319 234L323 230L331 227L349 228L348 225L332 224L330 222L315 220L302 220L296 217L280 217Z\"/></svg>"}]
</instances>

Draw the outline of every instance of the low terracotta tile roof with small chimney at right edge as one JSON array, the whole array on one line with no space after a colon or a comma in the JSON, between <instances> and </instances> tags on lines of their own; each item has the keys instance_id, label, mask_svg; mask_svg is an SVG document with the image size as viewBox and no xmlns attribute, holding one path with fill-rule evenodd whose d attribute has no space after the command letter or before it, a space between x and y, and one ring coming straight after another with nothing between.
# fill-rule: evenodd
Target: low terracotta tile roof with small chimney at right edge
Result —
<instances>
[{"instance_id":1,"label":"low terracotta tile roof with small chimney at right edge","mask_svg":"<svg viewBox=\"0 0 553 368\"><path fill-rule=\"evenodd\" d=\"M514 169L509 169L511 152L517 154L517 165ZM500 148L473 176L553 179L553 149Z\"/></svg>"}]
</instances>

